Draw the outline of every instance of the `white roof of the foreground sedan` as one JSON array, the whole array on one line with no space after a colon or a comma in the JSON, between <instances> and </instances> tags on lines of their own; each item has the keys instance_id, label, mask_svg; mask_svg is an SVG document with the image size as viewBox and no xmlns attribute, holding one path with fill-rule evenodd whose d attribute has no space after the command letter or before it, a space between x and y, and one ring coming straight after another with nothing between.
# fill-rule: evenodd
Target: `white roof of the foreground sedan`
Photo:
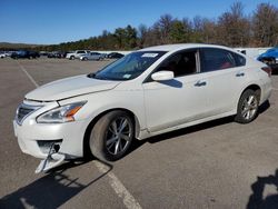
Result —
<instances>
[{"instance_id":1,"label":"white roof of the foreground sedan","mask_svg":"<svg viewBox=\"0 0 278 209\"><path fill-rule=\"evenodd\" d=\"M162 46L155 46L141 49L139 51L178 51L182 49L190 49L190 48L220 48L220 49L228 49L230 48L217 44L203 44L203 43L177 43L177 44L162 44Z\"/></svg>"}]
</instances>

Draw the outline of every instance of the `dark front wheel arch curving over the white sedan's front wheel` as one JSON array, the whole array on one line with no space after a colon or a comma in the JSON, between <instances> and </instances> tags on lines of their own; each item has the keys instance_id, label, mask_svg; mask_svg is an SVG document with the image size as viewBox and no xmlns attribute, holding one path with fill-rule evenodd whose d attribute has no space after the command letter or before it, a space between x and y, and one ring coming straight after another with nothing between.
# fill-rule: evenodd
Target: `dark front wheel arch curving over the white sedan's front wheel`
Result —
<instances>
[{"instance_id":1,"label":"dark front wheel arch curving over the white sedan's front wheel","mask_svg":"<svg viewBox=\"0 0 278 209\"><path fill-rule=\"evenodd\" d=\"M128 109L125 108L113 108L113 109L108 109L105 110L102 112L100 112L98 116L96 116L91 122L87 126L86 131L85 131L85 137L83 137L83 156L88 157L90 156L90 148L89 148L89 140L90 140L90 135L91 135L91 130L95 127L95 125L98 122L98 120L103 117L105 115L107 115L108 112L111 111L116 111L116 110L122 110L128 112L128 115L131 117L131 119L133 120L133 125L135 125L135 138L139 137L140 133L140 123L139 123L139 119L137 118L137 116Z\"/></svg>"}]
</instances>

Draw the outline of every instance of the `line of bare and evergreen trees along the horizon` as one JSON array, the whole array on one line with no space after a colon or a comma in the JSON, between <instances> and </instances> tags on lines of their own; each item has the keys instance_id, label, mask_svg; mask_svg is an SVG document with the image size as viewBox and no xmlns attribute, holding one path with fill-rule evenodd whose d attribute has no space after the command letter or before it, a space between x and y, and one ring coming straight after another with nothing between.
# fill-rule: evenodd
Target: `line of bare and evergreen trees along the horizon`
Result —
<instances>
[{"instance_id":1,"label":"line of bare and evergreen trees along the horizon","mask_svg":"<svg viewBox=\"0 0 278 209\"><path fill-rule=\"evenodd\" d=\"M278 8L260 3L251 14L245 14L244 4L234 2L218 18L173 18L161 16L152 26L127 26L113 32L105 30L101 36L60 44L36 47L37 50L69 51L135 50L167 43L215 43L228 47L272 47L278 44Z\"/></svg>"}]
</instances>

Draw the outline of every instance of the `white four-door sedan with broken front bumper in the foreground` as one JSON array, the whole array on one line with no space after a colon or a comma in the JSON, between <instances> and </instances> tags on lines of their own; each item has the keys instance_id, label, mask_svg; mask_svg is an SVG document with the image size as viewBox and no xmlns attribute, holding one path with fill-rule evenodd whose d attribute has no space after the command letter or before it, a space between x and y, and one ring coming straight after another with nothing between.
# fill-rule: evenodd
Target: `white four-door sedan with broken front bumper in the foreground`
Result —
<instances>
[{"instance_id":1,"label":"white four-door sedan with broken front bumper in the foreground","mask_svg":"<svg viewBox=\"0 0 278 209\"><path fill-rule=\"evenodd\" d=\"M135 139L235 116L252 121L271 93L271 69L226 47L169 44L141 49L83 74L44 84L17 110L21 150L62 160L123 157Z\"/></svg>"}]
</instances>

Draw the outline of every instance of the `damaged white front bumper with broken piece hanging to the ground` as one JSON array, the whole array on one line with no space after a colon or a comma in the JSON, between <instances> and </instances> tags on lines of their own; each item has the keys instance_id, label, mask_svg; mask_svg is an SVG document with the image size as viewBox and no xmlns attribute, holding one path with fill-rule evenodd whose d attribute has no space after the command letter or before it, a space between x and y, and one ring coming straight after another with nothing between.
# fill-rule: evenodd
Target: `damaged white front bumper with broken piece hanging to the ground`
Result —
<instances>
[{"instance_id":1,"label":"damaged white front bumper with broken piece hanging to the ground","mask_svg":"<svg viewBox=\"0 0 278 209\"><path fill-rule=\"evenodd\" d=\"M14 136L22 152L42 159L36 173L48 171L64 160L83 157L86 121L39 125L27 118L22 125L13 121Z\"/></svg>"}]
</instances>

